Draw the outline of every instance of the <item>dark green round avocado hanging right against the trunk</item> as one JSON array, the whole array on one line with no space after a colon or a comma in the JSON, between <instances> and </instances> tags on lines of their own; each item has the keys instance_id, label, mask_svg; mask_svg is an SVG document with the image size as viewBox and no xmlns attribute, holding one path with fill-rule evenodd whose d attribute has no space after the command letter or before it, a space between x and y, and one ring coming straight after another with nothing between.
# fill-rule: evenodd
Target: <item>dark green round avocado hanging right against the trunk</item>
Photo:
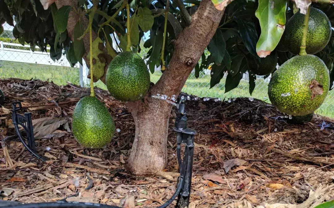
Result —
<instances>
[{"instance_id":1,"label":"dark green round avocado hanging right against the trunk","mask_svg":"<svg viewBox=\"0 0 334 208\"><path fill-rule=\"evenodd\" d=\"M122 52L109 64L106 85L120 101L144 98L150 87L150 74L144 60L136 53Z\"/></svg>"}]
</instances>

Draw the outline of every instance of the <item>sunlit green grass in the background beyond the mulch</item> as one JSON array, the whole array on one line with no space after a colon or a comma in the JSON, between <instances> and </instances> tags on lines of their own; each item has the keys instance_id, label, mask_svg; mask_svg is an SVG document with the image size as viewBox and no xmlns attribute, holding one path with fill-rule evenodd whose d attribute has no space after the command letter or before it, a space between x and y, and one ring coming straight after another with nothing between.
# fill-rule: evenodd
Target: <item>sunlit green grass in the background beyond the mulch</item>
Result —
<instances>
[{"instance_id":1,"label":"sunlit green grass in the background beyond the mulch","mask_svg":"<svg viewBox=\"0 0 334 208\"><path fill-rule=\"evenodd\" d=\"M5 78L21 78L21 79L40 79L45 81L52 81L57 85L66 85L70 82L75 85L79 85L79 69L70 67L58 67L49 65L19 63L19 62L0 62L0 79ZM151 82L156 83L161 72L155 72L151 74ZM210 75L202 74L202 78L196 79L194 76L190 76L182 91L198 97L211 97L211 98L234 98L234 97L252 97L265 102L270 103L267 94L268 83L263 79L256 80L256 87L252 94L248 92L248 81L241 80L237 88L224 94L223 78L220 83L209 89ZM107 90L107 87L101 82L94 83L95 86ZM316 113L326 115L334 118L334 90L330 91L324 103L316 110Z\"/></svg>"}]
</instances>

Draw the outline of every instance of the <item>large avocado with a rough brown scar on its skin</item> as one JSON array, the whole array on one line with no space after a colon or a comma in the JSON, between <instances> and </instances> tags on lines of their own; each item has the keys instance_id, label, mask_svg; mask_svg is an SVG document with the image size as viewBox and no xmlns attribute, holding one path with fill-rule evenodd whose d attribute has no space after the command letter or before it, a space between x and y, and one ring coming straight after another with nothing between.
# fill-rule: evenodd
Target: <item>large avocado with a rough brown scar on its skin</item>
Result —
<instances>
[{"instance_id":1,"label":"large avocado with a rough brown scar on its skin","mask_svg":"<svg viewBox=\"0 0 334 208\"><path fill-rule=\"evenodd\" d=\"M329 72L317 56L295 56L272 74L268 85L271 103L288 115L314 112L329 90Z\"/></svg>"}]
</instances>

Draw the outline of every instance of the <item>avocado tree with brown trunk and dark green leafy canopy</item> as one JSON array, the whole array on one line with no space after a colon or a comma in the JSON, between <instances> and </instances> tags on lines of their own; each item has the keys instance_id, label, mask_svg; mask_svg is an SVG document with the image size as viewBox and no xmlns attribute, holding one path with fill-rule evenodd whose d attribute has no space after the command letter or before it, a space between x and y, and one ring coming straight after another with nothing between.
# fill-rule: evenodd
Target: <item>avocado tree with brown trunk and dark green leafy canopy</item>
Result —
<instances>
[{"instance_id":1,"label":"avocado tree with brown trunk and dark green leafy canopy","mask_svg":"<svg viewBox=\"0 0 334 208\"><path fill-rule=\"evenodd\" d=\"M333 3L314 0L311 5L327 15L332 27ZM225 92L236 88L248 73L252 94L256 74L267 77L277 63L282 65L296 55L282 43L286 23L298 9L307 14L310 4L309 0L0 0L0 22L14 26L14 37L30 44L32 50L37 45L46 51L49 44L53 60L64 51L72 65L82 58L89 65L93 51L95 82L106 83L109 63L119 54L118 49L147 51L143 58L148 59L151 73L161 66L163 74L156 84L151 83L143 99L126 102L136 125L127 168L143 174L167 165L171 105L151 95L178 95L193 70L199 77L200 71L208 68L211 87L227 72ZM145 34L150 38L141 45ZM116 40L120 43L113 48ZM315 55L329 70L331 89L334 33Z\"/></svg>"}]
</instances>

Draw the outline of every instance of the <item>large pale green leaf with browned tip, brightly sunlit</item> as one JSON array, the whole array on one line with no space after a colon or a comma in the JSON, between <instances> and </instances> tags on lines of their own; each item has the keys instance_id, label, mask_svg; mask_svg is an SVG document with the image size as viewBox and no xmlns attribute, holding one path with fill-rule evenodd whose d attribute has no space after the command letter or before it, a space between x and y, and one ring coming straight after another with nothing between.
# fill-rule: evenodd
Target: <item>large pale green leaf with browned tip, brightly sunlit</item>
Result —
<instances>
[{"instance_id":1,"label":"large pale green leaf with browned tip, brightly sunlit","mask_svg":"<svg viewBox=\"0 0 334 208\"><path fill-rule=\"evenodd\" d=\"M268 56L280 42L285 29L287 0L259 0L255 16L260 21L261 35L256 45L259 57Z\"/></svg>"}]
</instances>

